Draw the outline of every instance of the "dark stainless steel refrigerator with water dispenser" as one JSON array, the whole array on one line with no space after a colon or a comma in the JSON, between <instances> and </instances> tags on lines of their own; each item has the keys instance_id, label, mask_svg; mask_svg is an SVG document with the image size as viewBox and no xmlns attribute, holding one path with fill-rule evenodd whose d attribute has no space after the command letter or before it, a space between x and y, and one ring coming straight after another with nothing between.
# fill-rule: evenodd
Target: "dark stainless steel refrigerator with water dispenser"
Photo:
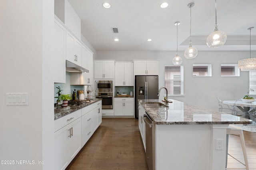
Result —
<instances>
[{"instance_id":1,"label":"dark stainless steel refrigerator with water dispenser","mask_svg":"<svg viewBox=\"0 0 256 170\"><path fill-rule=\"evenodd\" d=\"M138 99L158 99L158 75L135 76L135 117L138 119Z\"/></svg>"}]
</instances>

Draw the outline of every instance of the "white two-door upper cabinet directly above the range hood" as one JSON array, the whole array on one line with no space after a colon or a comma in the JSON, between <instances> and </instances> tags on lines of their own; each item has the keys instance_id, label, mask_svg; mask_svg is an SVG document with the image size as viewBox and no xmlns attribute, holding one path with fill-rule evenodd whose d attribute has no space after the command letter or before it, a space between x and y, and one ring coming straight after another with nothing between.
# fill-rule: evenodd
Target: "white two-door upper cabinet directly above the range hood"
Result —
<instances>
[{"instance_id":1,"label":"white two-door upper cabinet directly above the range hood","mask_svg":"<svg viewBox=\"0 0 256 170\"><path fill-rule=\"evenodd\" d=\"M82 43L66 31L66 60L82 66Z\"/></svg>"}]
</instances>

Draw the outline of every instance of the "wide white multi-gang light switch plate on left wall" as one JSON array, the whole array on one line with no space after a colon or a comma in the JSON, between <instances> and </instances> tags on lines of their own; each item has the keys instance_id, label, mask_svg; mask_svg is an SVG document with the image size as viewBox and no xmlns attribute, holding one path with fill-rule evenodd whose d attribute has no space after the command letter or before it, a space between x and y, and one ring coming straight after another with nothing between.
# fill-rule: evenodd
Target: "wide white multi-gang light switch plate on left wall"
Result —
<instances>
[{"instance_id":1,"label":"wide white multi-gang light switch plate on left wall","mask_svg":"<svg viewBox=\"0 0 256 170\"><path fill-rule=\"evenodd\" d=\"M7 106L28 105L28 93L6 93Z\"/></svg>"}]
</instances>

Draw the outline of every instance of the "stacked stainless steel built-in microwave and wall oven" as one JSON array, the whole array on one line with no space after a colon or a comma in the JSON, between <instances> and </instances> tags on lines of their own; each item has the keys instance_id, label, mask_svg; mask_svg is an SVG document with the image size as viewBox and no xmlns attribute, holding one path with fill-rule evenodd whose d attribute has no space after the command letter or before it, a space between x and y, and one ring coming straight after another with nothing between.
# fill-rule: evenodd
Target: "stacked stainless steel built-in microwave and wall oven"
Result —
<instances>
[{"instance_id":1,"label":"stacked stainless steel built-in microwave and wall oven","mask_svg":"<svg viewBox=\"0 0 256 170\"><path fill-rule=\"evenodd\" d=\"M102 98L102 109L113 109L113 81L96 80L95 97Z\"/></svg>"}]
</instances>

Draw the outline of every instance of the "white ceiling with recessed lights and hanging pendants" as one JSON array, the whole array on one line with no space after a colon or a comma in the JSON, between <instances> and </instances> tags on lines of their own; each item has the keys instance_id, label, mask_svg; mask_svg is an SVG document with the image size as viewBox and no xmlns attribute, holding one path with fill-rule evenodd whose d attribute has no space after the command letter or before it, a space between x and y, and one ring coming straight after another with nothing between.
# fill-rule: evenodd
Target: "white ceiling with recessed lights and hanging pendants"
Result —
<instances>
[{"instance_id":1,"label":"white ceiling with recessed lights and hanging pendants","mask_svg":"<svg viewBox=\"0 0 256 170\"><path fill-rule=\"evenodd\" d=\"M217 0L218 29L227 41L219 48L206 45L214 31L214 0L68 0L81 19L81 32L96 51L178 51L189 45L192 7L192 45L198 50L256 50L256 0ZM108 2L111 8L103 8ZM160 3L168 2L167 8ZM112 33L118 28L118 33ZM119 41L115 42L114 39ZM147 39L152 39L148 42Z\"/></svg>"}]
</instances>

